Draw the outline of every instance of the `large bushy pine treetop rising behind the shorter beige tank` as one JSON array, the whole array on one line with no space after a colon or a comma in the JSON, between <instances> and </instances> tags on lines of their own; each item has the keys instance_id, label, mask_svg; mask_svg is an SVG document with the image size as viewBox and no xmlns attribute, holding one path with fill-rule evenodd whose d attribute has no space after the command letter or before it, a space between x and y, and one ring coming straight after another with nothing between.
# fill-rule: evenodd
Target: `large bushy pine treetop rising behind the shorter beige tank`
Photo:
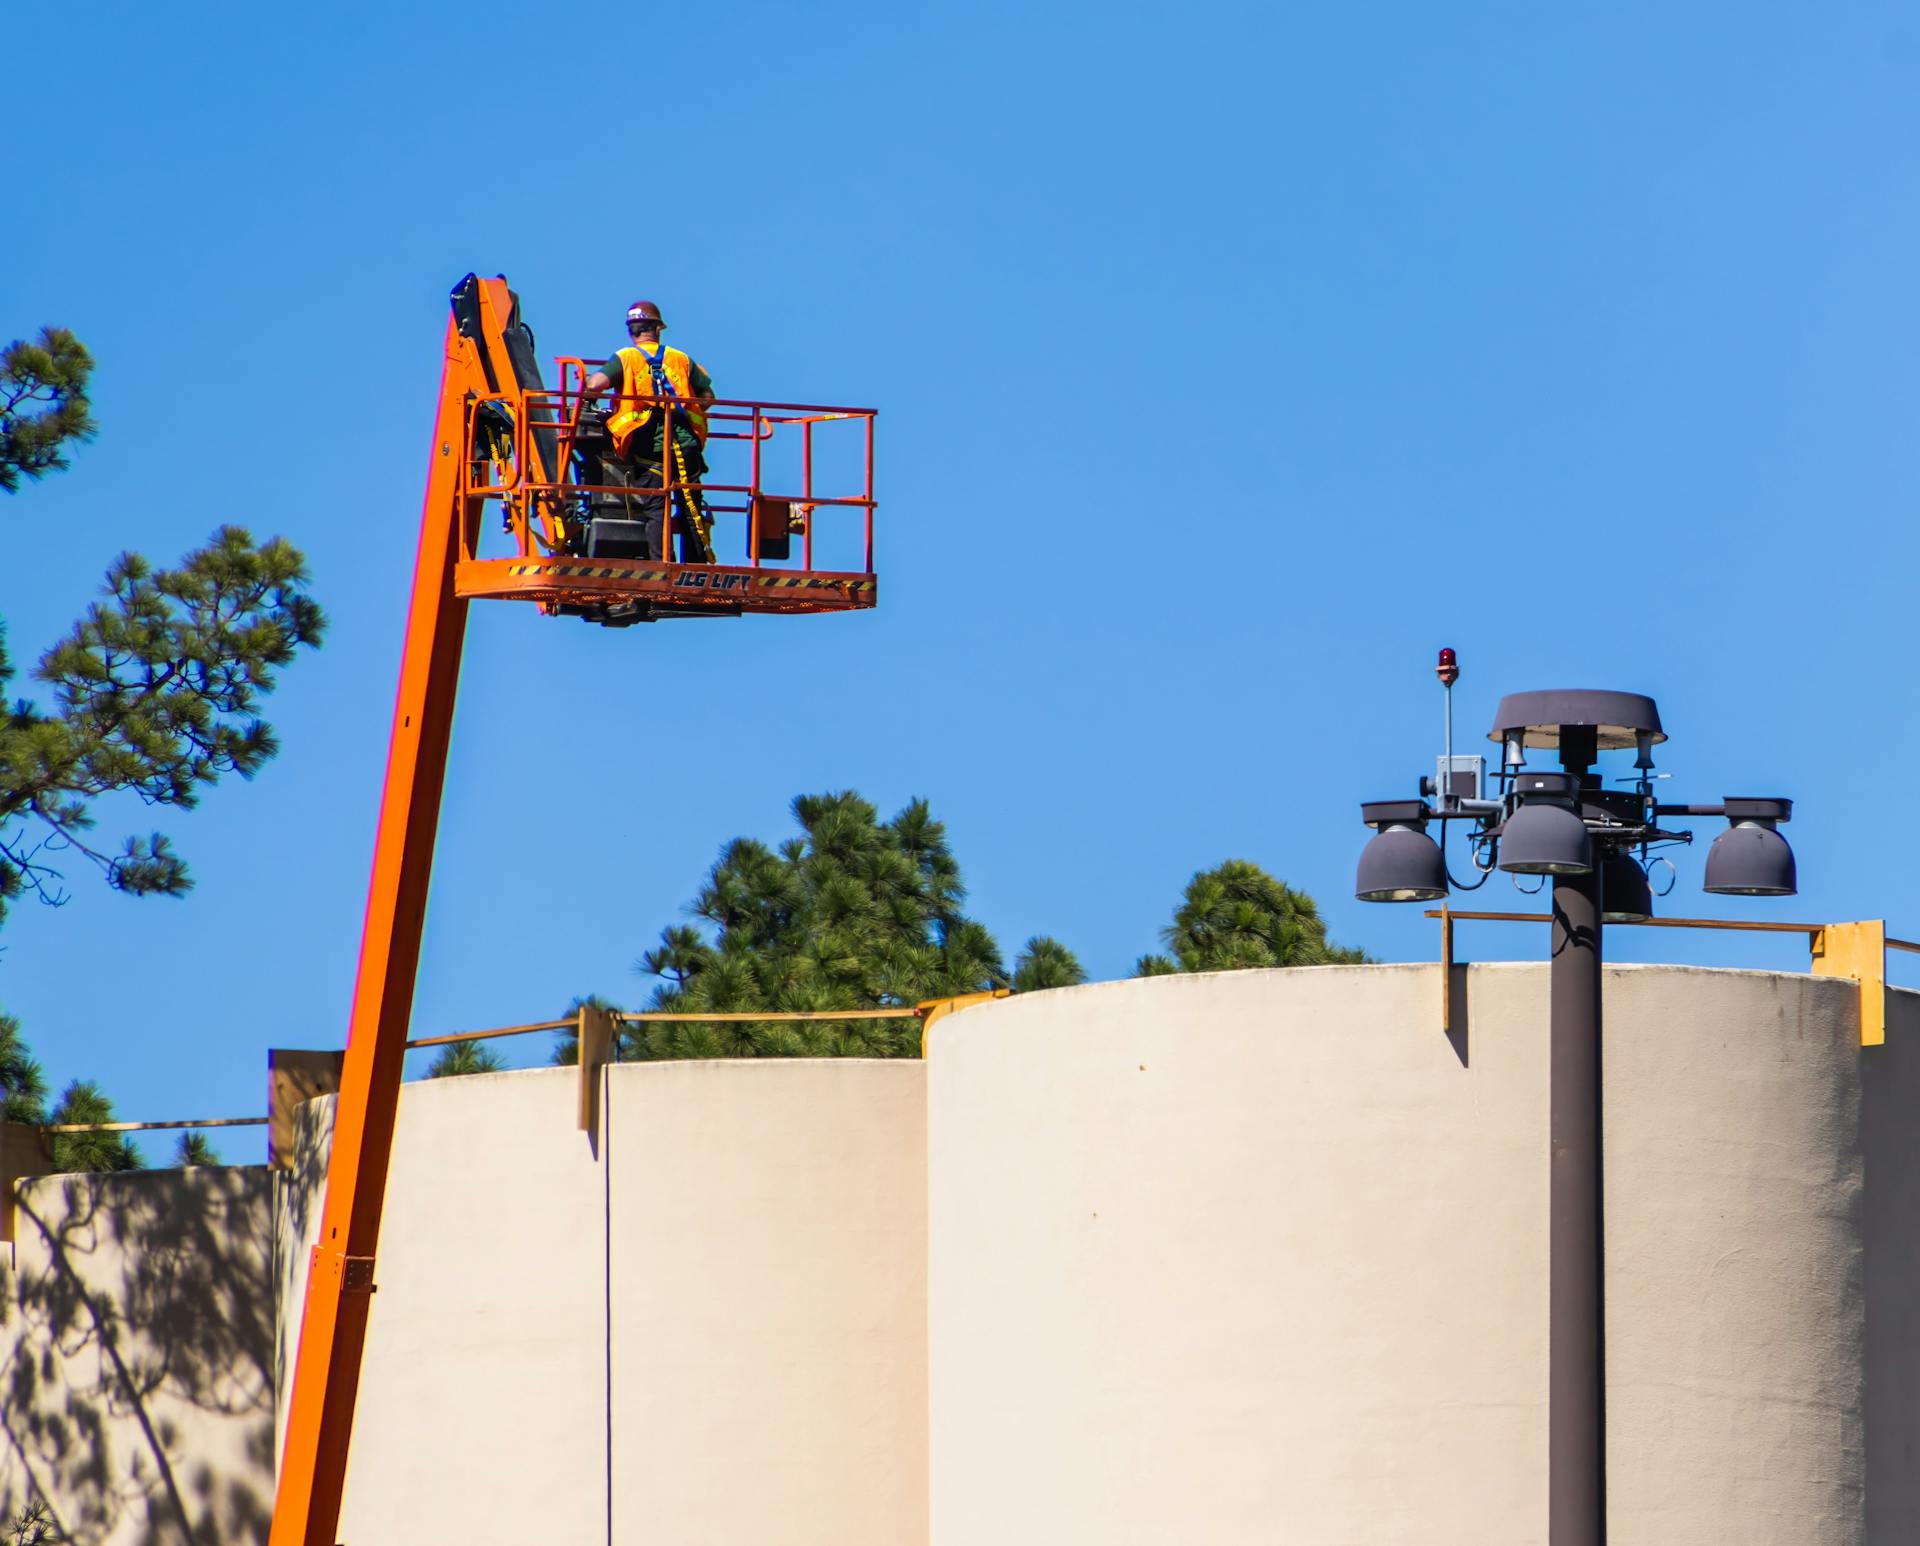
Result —
<instances>
[{"instance_id":1,"label":"large bushy pine treetop rising behind the shorter beige tank","mask_svg":"<svg viewBox=\"0 0 1920 1546\"><path fill-rule=\"evenodd\" d=\"M1031 939L1008 972L962 912L966 887L925 801L891 820L852 791L793 801L801 835L778 849L737 837L691 912L708 930L660 931L639 962L660 978L649 1008L684 1012L908 1008L989 987L1079 981L1073 954ZM622 1031L632 1058L910 1056L912 1020L653 1022Z\"/></svg>"}]
</instances>

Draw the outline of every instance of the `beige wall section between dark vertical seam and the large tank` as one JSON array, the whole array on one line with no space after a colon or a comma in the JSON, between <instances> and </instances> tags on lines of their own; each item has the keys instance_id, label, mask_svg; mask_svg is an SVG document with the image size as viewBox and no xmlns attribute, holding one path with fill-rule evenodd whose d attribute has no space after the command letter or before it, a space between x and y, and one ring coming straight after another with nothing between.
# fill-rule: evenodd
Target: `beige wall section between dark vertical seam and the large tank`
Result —
<instances>
[{"instance_id":1,"label":"beige wall section between dark vertical seam and the large tank","mask_svg":"<svg viewBox=\"0 0 1920 1546\"><path fill-rule=\"evenodd\" d=\"M624 1546L927 1538L918 1062L611 1079Z\"/></svg>"}]
</instances>

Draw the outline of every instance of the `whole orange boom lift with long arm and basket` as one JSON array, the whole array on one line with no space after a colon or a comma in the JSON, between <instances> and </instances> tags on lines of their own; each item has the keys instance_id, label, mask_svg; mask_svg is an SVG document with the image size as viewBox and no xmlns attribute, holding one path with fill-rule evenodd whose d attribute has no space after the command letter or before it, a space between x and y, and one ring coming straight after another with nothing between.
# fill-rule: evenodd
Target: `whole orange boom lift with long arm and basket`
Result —
<instances>
[{"instance_id":1,"label":"whole orange boom lift with long arm and basket","mask_svg":"<svg viewBox=\"0 0 1920 1546\"><path fill-rule=\"evenodd\" d=\"M549 615L605 624L858 611L876 603L872 409L712 403L710 453L720 463L730 453L735 461L743 453L747 465L732 472L733 482L708 474L699 490L684 490L674 484L672 457L666 459L659 495L670 511L666 553L674 551L672 528L687 519L689 501L707 495L714 515L745 517L743 561L689 565L647 557L639 522L622 519L616 509L632 490L603 482L593 413L580 390L593 367L578 355L563 355L559 388L541 384L532 330L520 321L520 300L505 277L467 275L453 288L451 305L399 701L326 1200L307 1264L271 1546L336 1542L467 603L474 597L532 601ZM670 440L674 401L641 401L666 415ZM858 494L833 495L816 488L814 442L828 424L864 428ZM770 494L762 474L772 444L781 434L791 440L793 432L801 442L801 488ZM505 553L484 542L490 505L501 517ZM862 568L816 570L816 517L839 509L864 517ZM793 563L793 534L801 536L799 563Z\"/></svg>"}]
</instances>

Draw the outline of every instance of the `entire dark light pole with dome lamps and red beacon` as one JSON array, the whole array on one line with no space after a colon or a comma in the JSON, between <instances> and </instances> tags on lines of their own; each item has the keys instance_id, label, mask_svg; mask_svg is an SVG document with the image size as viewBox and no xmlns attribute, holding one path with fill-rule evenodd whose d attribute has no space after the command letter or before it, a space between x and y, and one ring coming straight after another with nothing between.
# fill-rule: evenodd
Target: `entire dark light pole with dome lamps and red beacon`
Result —
<instances>
[{"instance_id":1,"label":"entire dark light pole with dome lamps and red beacon","mask_svg":"<svg viewBox=\"0 0 1920 1546\"><path fill-rule=\"evenodd\" d=\"M1659 709L1642 693L1511 693L1494 713L1500 745L1492 780L1480 757L1452 755L1452 703L1459 664L1440 651L1448 689L1448 753L1419 799L1369 801L1361 818L1375 837L1361 849L1356 895L1369 903L1442 901L1459 885L1428 822L1467 822L1476 880L1496 870L1553 882L1548 1093L1548 1542L1603 1546L1605 1494L1605 1304L1601 1300L1601 939L1609 918L1653 910L1645 858L1655 845L1690 843L1692 832L1659 826L1668 816L1724 816L1730 826L1707 855L1703 889L1722 895L1791 897L1793 851L1776 830L1788 799L1670 805L1653 799L1653 747L1667 739ZM1557 753L1559 768L1534 772L1528 749ZM1634 751L1628 787L1607 789L1603 751ZM1636 857L1638 855L1638 857Z\"/></svg>"}]
</instances>

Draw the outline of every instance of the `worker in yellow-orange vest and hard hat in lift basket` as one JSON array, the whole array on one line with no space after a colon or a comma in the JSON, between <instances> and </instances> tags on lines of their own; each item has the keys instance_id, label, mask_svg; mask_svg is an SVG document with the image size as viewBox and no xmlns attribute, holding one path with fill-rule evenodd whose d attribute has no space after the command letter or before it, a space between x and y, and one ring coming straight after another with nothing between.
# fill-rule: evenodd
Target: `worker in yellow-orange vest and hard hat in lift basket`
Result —
<instances>
[{"instance_id":1,"label":"worker in yellow-orange vest and hard hat in lift basket","mask_svg":"<svg viewBox=\"0 0 1920 1546\"><path fill-rule=\"evenodd\" d=\"M599 396L609 388L618 392L607 415L607 436L612 453L603 459L607 482L632 488L628 507L639 507L647 522L649 557L668 557L664 542L666 501L641 490L664 484L662 467L672 463L674 488L697 484L707 476L707 405L714 399L712 378L685 353L660 342L660 307L653 302L634 302L626 309L626 334L632 346L616 351L586 380L586 394ZM674 401L674 440L664 444L666 409L636 398L670 398ZM707 499L697 490L676 497L674 528L680 532L682 563L712 563Z\"/></svg>"}]
</instances>

